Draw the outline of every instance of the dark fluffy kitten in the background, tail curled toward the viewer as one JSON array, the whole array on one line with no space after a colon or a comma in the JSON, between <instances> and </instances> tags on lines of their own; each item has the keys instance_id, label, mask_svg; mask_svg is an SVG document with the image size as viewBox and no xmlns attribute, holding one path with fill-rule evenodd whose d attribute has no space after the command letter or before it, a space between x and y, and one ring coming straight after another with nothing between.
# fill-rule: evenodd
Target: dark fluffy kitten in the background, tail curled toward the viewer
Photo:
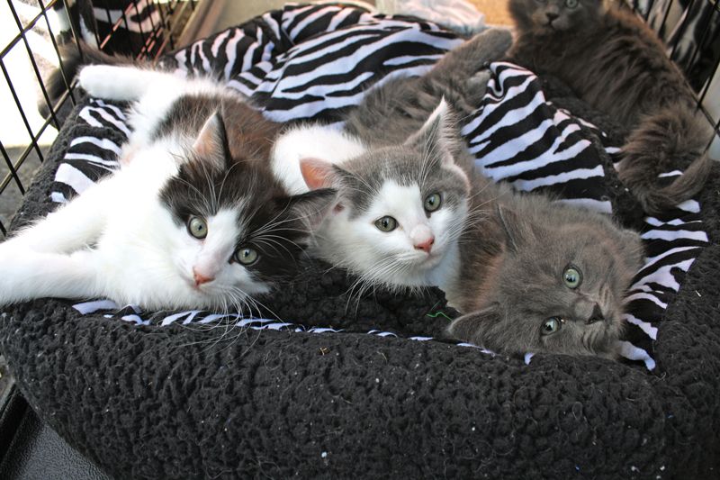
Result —
<instances>
[{"instance_id":1,"label":"dark fluffy kitten in the background, tail curled toward the viewer","mask_svg":"<svg viewBox=\"0 0 720 480\"><path fill-rule=\"evenodd\" d=\"M662 42L622 6L601 0L510 0L518 29L510 57L550 73L577 95L632 129L619 177L648 213L688 200L712 165L704 151L712 136L696 115L695 98ZM658 177L677 159L692 161L667 186Z\"/></svg>"}]
</instances>

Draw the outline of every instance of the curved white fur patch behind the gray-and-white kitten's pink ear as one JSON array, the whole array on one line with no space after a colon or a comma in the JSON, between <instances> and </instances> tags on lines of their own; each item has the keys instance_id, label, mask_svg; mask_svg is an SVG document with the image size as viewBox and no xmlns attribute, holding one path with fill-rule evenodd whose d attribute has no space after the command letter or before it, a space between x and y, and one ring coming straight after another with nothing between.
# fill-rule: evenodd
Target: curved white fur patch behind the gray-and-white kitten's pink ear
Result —
<instances>
[{"instance_id":1,"label":"curved white fur patch behind the gray-and-white kitten's pink ear","mask_svg":"<svg viewBox=\"0 0 720 480\"><path fill-rule=\"evenodd\" d=\"M323 125L301 125L281 135L271 156L273 175L292 195L308 191L300 171L302 158L320 158L335 164L365 153L365 145L343 131Z\"/></svg>"}]
</instances>

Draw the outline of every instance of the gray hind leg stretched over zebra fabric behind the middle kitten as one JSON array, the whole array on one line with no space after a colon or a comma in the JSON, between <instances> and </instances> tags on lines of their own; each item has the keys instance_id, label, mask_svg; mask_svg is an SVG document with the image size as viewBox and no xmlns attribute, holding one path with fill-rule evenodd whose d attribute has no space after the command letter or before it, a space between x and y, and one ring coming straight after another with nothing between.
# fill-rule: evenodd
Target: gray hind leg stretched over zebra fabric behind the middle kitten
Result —
<instances>
[{"instance_id":1,"label":"gray hind leg stretched over zebra fabric behind the middle kitten","mask_svg":"<svg viewBox=\"0 0 720 480\"><path fill-rule=\"evenodd\" d=\"M512 45L507 29L492 28L478 33L456 49L448 51L430 70L428 77L470 78L488 62L502 59Z\"/></svg>"}]
</instances>

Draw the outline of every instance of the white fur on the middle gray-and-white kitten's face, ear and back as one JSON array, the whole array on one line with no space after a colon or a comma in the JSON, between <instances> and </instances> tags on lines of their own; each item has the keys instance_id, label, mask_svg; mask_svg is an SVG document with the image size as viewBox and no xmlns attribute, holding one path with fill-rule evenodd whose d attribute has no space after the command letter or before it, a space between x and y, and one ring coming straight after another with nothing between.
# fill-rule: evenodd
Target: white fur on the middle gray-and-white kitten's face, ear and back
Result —
<instances>
[{"instance_id":1,"label":"white fur on the middle gray-and-white kitten's face, ear and back","mask_svg":"<svg viewBox=\"0 0 720 480\"><path fill-rule=\"evenodd\" d=\"M448 114L442 99L421 131ZM420 131L418 132L418 135ZM410 140L409 140L410 141ZM319 158L342 165L366 151L365 145L345 131L320 125L301 125L285 132L275 143L273 172L293 194L308 191L302 178L300 160ZM447 153L443 168L462 168ZM338 199L342 204L342 199ZM314 255L345 267L367 285L429 286L451 288L459 271L457 236L467 216L467 205L455 210L441 207L428 218L419 186L400 186L388 179L375 195L367 212L350 218L349 209L333 209L315 232ZM394 231L383 232L375 222L392 216L399 223ZM434 237L429 253L415 246Z\"/></svg>"}]
</instances>

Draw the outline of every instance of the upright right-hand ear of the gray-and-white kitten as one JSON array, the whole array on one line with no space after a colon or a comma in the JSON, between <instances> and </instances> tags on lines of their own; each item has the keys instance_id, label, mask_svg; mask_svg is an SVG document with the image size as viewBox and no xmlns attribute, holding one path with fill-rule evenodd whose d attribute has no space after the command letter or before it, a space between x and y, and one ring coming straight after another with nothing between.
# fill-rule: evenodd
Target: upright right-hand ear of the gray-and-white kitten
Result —
<instances>
[{"instance_id":1,"label":"upright right-hand ear of the gray-and-white kitten","mask_svg":"<svg viewBox=\"0 0 720 480\"><path fill-rule=\"evenodd\" d=\"M445 97L440 100L435 111L430 114L428 122L405 141L405 145L413 149L440 156L443 164L455 165L452 152L455 150L455 116Z\"/></svg>"}]
</instances>

